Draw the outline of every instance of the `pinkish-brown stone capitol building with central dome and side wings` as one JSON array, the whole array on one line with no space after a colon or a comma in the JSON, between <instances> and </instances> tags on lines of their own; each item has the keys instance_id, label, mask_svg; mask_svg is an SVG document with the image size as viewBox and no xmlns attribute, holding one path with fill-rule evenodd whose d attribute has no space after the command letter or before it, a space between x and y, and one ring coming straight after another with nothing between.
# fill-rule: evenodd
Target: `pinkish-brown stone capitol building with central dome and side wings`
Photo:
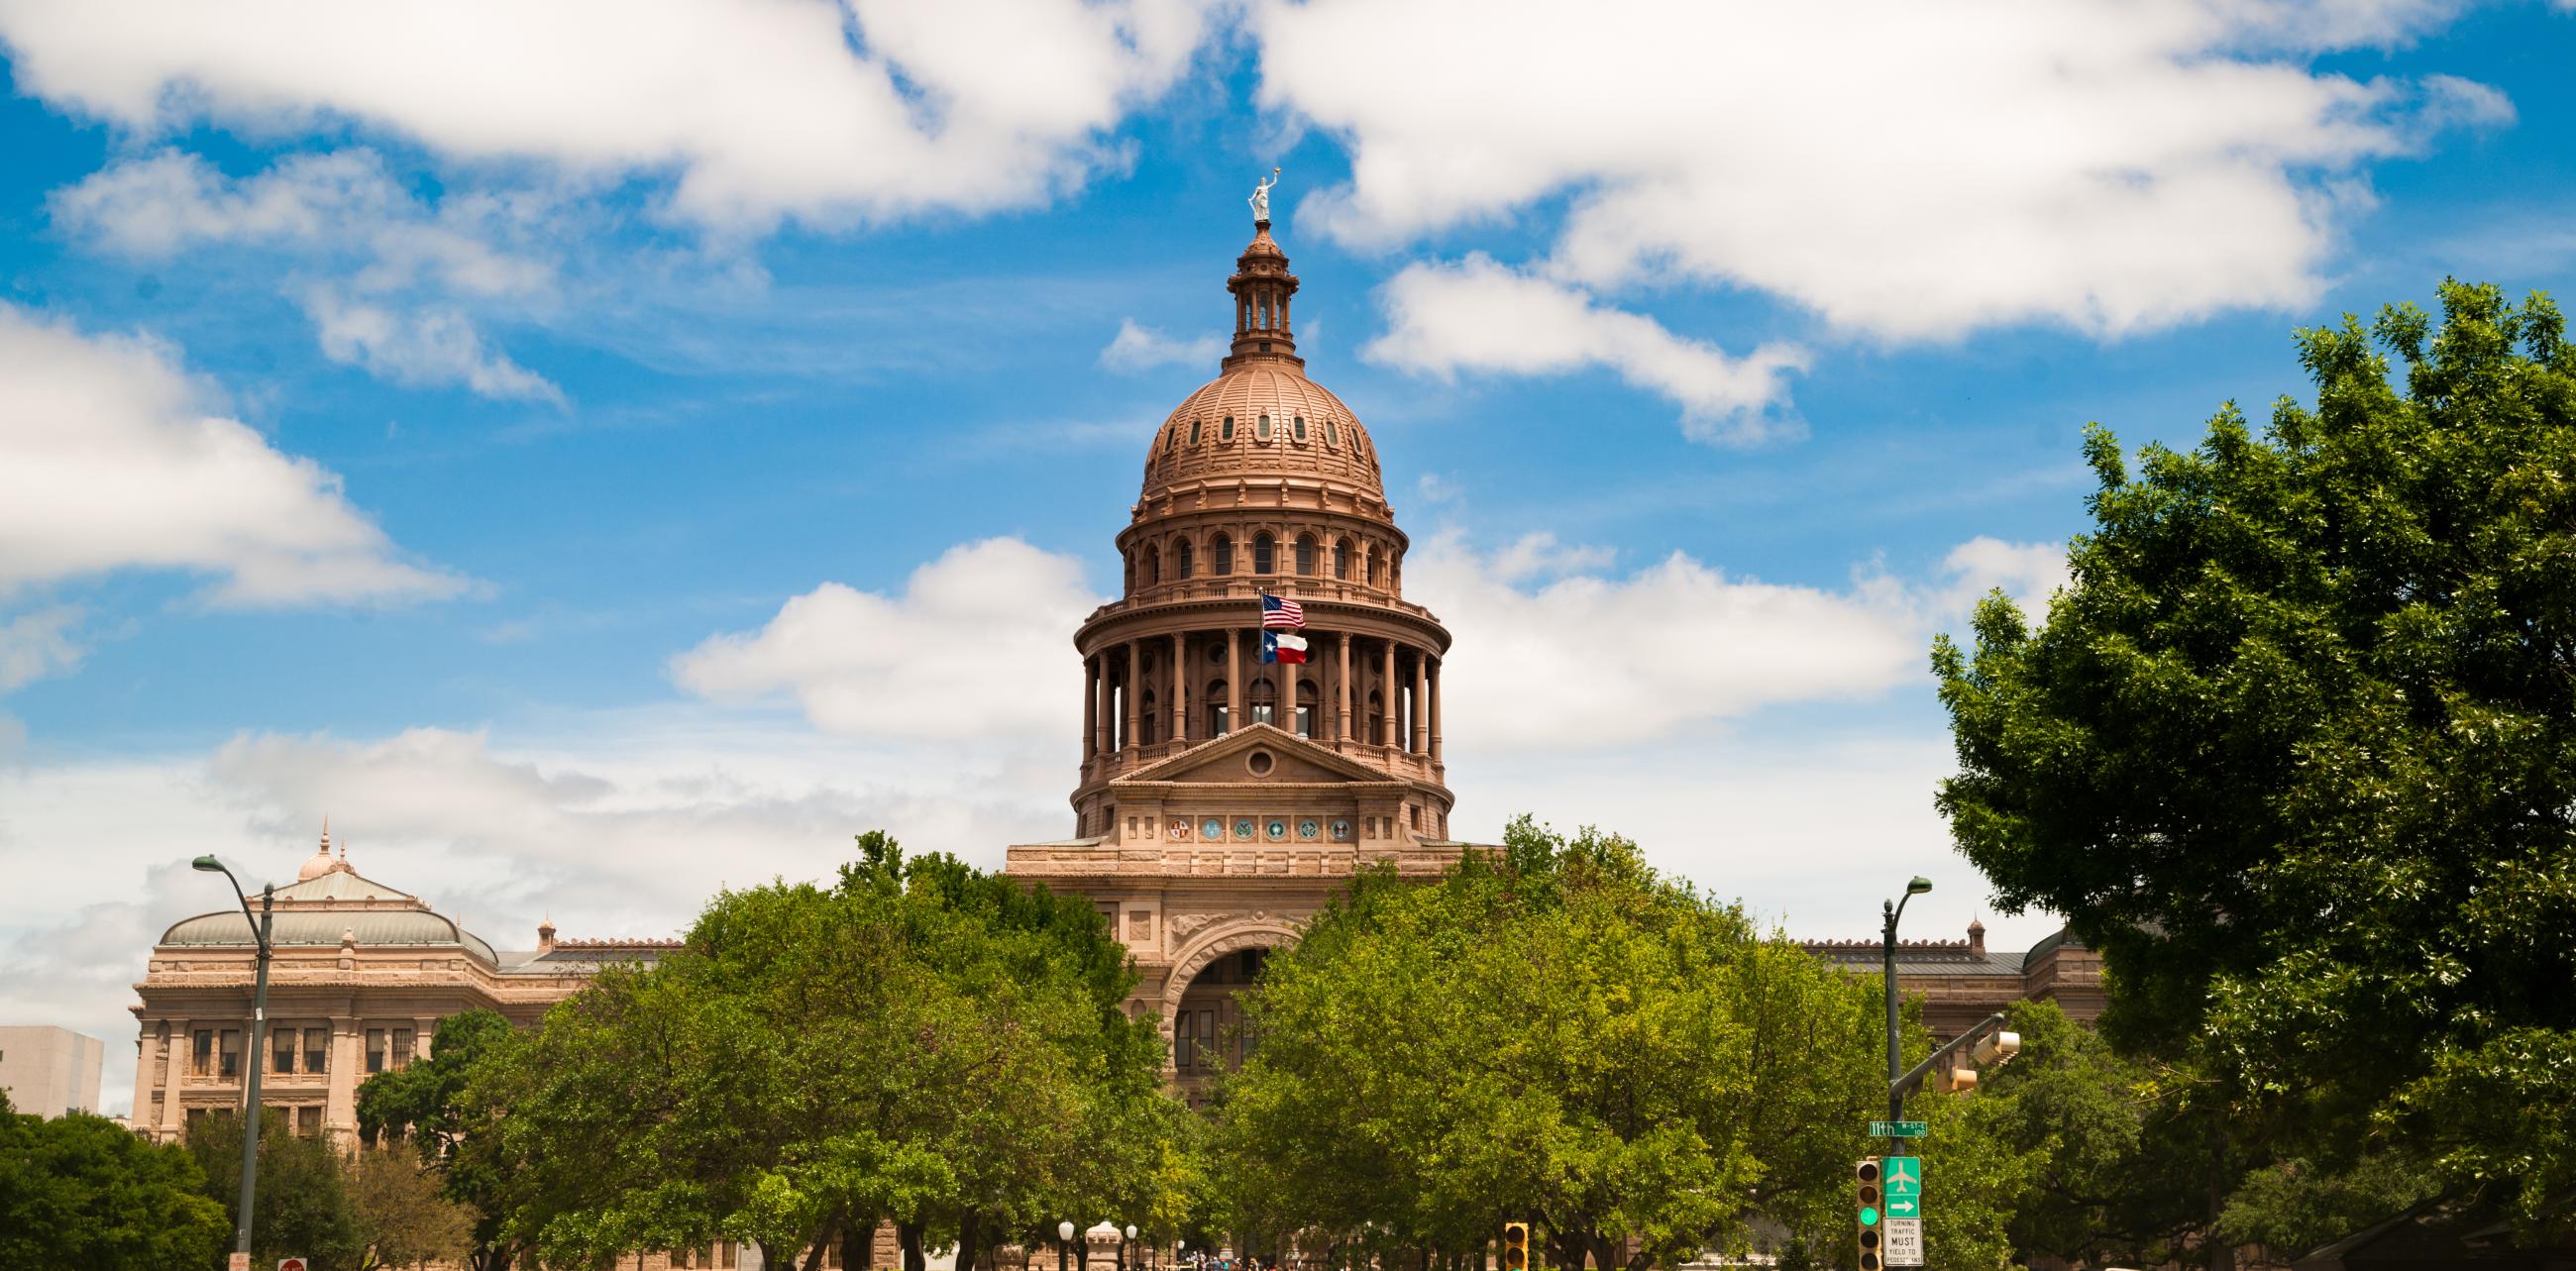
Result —
<instances>
[{"instance_id":1,"label":"pinkish-brown stone capitol building with central dome and side wings","mask_svg":"<svg viewBox=\"0 0 2576 1271\"><path fill-rule=\"evenodd\" d=\"M1288 255L1255 222L1236 260L1234 345L1146 443L1118 534L1123 588L1074 632L1082 655L1072 838L1007 848L1007 871L1090 897L1136 956L1131 1011L1162 1018L1175 1085L1242 1060L1234 995L1368 864L1437 877L1450 838L1440 665L1450 634L1404 598L1406 536L1360 418L1296 356ZM1260 596L1298 601L1309 660L1265 663ZM428 1054L438 1021L492 1008L533 1024L608 962L675 941L495 949L425 900L361 877L345 846L276 895L268 1054L247 1054L252 941L240 910L175 923L152 949L137 1042L137 1129L175 1140L263 1103L307 1134L355 1134L355 1088ZM1868 975L1878 944L1814 944ZM2099 1013L2099 967L2053 936L2027 954L1965 941L1901 951L1906 990L1953 1036L2017 998Z\"/></svg>"}]
</instances>

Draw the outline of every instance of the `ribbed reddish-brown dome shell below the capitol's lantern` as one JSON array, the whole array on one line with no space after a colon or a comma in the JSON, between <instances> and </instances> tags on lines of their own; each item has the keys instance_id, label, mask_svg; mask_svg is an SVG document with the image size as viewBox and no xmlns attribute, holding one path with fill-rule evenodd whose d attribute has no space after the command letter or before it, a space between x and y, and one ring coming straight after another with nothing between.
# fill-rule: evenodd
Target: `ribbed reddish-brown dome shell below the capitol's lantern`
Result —
<instances>
[{"instance_id":1,"label":"ribbed reddish-brown dome shell below the capitol's lantern","mask_svg":"<svg viewBox=\"0 0 2576 1271\"><path fill-rule=\"evenodd\" d=\"M1185 397L1154 433L1144 495L1154 500L1172 485L1239 477L1329 480L1386 498L1368 428L1332 389L1285 361L1234 366Z\"/></svg>"}]
</instances>

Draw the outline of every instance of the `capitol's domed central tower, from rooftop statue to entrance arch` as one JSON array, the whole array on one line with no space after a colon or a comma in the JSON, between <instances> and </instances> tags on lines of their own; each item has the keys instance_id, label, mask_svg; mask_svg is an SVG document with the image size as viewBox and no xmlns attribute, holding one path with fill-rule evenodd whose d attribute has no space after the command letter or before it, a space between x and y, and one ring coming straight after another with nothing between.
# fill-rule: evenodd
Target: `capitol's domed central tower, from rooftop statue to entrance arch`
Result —
<instances>
[{"instance_id":1,"label":"capitol's domed central tower, from rooftop statue to entrance arch","mask_svg":"<svg viewBox=\"0 0 2576 1271\"><path fill-rule=\"evenodd\" d=\"M1074 632L1074 835L1010 874L1087 895L1136 954L1172 1078L1242 1060L1234 993L1373 864L1458 859L1440 758L1450 634L1404 601L1378 451L1296 356L1296 273L1255 222L1234 343L1146 441L1123 585ZM1309 660L1262 663L1262 593L1306 611Z\"/></svg>"}]
</instances>

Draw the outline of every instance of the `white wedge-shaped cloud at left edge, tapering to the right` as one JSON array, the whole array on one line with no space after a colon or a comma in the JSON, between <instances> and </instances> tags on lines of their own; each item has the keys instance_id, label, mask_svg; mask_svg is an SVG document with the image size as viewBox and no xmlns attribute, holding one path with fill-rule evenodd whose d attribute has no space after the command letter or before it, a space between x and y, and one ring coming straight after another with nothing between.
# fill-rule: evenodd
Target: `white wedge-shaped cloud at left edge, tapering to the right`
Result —
<instances>
[{"instance_id":1,"label":"white wedge-shaped cloud at left edge, tapering to the right","mask_svg":"<svg viewBox=\"0 0 2576 1271\"><path fill-rule=\"evenodd\" d=\"M206 397L160 343L0 304L0 596L139 567L216 575L237 606L464 590Z\"/></svg>"}]
</instances>

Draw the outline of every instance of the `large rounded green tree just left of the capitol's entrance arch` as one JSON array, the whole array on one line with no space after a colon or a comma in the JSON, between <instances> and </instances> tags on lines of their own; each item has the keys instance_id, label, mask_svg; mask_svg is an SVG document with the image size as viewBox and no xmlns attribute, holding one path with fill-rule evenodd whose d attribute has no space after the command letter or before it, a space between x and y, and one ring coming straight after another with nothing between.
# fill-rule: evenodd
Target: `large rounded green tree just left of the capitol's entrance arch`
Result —
<instances>
[{"instance_id":1,"label":"large rounded green tree just left of the capitol's entrance arch","mask_svg":"<svg viewBox=\"0 0 2576 1271\"><path fill-rule=\"evenodd\" d=\"M505 1230L551 1263L750 1240L773 1266L878 1222L969 1271L1064 1212L1144 1201L1157 1034L1090 905L860 838L835 887L719 895L469 1080ZM1108 1189L1115 1178L1118 1189Z\"/></svg>"}]
</instances>

